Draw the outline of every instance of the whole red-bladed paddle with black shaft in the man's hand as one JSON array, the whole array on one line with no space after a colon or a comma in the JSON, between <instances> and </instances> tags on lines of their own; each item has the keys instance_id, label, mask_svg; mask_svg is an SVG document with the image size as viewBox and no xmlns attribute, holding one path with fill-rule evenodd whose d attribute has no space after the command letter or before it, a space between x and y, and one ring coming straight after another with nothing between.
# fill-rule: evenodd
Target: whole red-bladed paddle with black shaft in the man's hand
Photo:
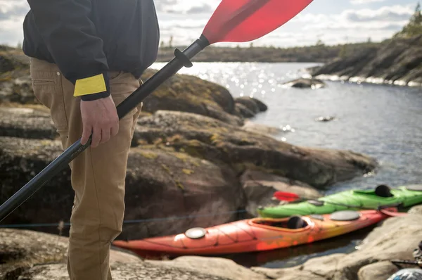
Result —
<instances>
[{"instance_id":1,"label":"whole red-bladed paddle with black shaft in the man's hand","mask_svg":"<svg viewBox=\"0 0 422 280\"><path fill-rule=\"evenodd\" d=\"M311 2L312 0L222 0L200 38L184 51L175 49L172 61L117 106L119 119L181 68L191 67L191 58L205 47L217 42L249 42L260 38L287 23ZM80 140L67 148L0 206L0 222L91 145L91 136L85 145L82 145Z\"/></svg>"}]
</instances>

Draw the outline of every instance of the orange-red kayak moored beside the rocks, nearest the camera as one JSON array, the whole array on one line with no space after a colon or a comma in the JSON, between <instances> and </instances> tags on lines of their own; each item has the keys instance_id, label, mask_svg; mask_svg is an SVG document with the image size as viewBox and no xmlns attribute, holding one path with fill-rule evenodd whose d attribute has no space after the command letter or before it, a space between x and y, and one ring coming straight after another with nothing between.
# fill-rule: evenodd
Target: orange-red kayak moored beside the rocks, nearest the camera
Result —
<instances>
[{"instance_id":1,"label":"orange-red kayak moored beside the rocks, nearest the camera","mask_svg":"<svg viewBox=\"0 0 422 280\"><path fill-rule=\"evenodd\" d=\"M397 212L396 208L389 208ZM114 241L113 245L143 255L221 255L274 250L312 243L369 227L390 217L377 210L343 210L326 215L283 219L253 218L215 227L188 229L184 234Z\"/></svg>"}]
</instances>

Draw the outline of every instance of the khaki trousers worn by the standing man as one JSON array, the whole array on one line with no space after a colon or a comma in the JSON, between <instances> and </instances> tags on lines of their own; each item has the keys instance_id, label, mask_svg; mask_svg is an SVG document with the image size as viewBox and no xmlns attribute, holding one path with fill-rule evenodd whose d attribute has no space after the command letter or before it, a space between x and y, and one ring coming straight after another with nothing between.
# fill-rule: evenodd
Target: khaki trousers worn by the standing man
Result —
<instances>
[{"instance_id":1,"label":"khaki trousers worn by the standing man","mask_svg":"<svg viewBox=\"0 0 422 280\"><path fill-rule=\"evenodd\" d=\"M82 136L79 98L55 64L31 59L34 94L48 107L63 148ZM116 106L141 82L130 73L110 72ZM124 178L136 120L142 104L119 122L119 132L105 144L87 148L70 163L75 200L70 217L68 272L70 279L111 279L110 243L122 231Z\"/></svg>"}]
</instances>

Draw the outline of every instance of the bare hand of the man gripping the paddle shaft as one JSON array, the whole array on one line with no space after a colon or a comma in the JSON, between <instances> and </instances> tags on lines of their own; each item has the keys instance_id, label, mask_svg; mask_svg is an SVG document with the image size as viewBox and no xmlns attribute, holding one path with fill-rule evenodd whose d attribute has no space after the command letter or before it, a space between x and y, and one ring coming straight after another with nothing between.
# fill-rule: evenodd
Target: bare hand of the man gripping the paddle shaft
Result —
<instances>
[{"instance_id":1,"label":"bare hand of the man gripping the paddle shaft","mask_svg":"<svg viewBox=\"0 0 422 280\"><path fill-rule=\"evenodd\" d=\"M93 101L81 101L84 130L81 144L87 144L92 132L91 147L106 143L119 132L119 117L113 98L108 96Z\"/></svg>"}]
</instances>

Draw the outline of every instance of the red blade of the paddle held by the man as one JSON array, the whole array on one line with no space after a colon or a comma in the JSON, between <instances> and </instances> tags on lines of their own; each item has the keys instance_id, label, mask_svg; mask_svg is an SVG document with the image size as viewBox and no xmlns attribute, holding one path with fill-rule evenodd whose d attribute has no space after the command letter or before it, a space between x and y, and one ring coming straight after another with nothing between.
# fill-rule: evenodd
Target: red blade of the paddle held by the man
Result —
<instances>
[{"instance_id":1,"label":"red blade of the paddle held by the man","mask_svg":"<svg viewBox=\"0 0 422 280\"><path fill-rule=\"evenodd\" d=\"M203 35L210 44L248 42L280 27L312 0L222 0Z\"/></svg>"}]
</instances>

